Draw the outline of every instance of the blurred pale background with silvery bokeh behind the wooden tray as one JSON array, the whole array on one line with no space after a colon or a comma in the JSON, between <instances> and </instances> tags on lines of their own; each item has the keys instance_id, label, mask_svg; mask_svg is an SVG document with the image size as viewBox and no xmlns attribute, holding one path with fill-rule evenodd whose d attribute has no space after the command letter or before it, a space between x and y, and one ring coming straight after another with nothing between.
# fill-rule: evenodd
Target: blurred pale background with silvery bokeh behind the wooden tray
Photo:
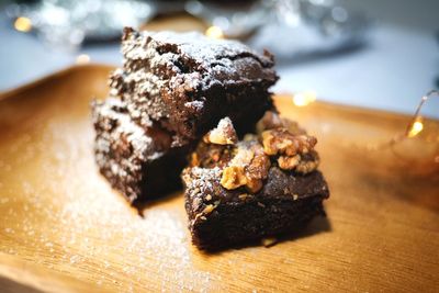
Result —
<instances>
[{"instance_id":1,"label":"blurred pale background with silvery bokeh behind the wooden tray","mask_svg":"<svg viewBox=\"0 0 439 293\"><path fill-rule=\"evenodd\" d=\"M413 113L439 88L438 12L438 0L3 0L0 92L74 64L119 66L130 25L268 48L281 76L273 90L297 103ZM439 101L428 103L425 114L439 117Z\"/></svg>"}]
</instances>

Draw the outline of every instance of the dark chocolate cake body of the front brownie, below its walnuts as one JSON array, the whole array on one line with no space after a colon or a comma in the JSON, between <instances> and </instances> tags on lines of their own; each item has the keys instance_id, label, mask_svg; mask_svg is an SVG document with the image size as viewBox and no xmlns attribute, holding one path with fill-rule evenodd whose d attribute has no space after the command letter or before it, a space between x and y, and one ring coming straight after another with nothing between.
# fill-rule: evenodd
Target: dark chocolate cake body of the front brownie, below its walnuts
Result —
<instances>
[{"instance_id":1,"label":"dark chocolate cake body of the front brownie, below its walnuts","mask_svg":"<svg viewBox=\"0 0 439 293\"><path fill-rule=\"evenodd\" d=\"M291 233L325 215L323 200L329 191L319 171L295 174L271 167L256 194L224 189L219 173L219 168L183 171L189 228L200 248L214 250Z\"/></svg>"}]
</instances>

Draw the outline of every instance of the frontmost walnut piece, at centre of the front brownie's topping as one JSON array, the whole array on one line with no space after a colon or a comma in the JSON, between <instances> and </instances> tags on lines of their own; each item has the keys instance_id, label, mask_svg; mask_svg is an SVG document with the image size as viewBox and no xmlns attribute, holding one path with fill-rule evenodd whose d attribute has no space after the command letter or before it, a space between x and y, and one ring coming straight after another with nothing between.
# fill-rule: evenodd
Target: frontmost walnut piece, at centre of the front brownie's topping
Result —
<instances>
[{"instance_id":1,"label":"frontmost walnut piece, at centre of the front brownie's topping","mask_svg":"<svg viewBox=\"0 0 439 293\"><path fill-rule=\"evenodd\" d=\"M226 189L236 189L245 185L251 193L262 188L262 180L267 178L270 159L257 142L238 144L235 157L224 169L221 184Z\"/></svg>"}]
</instances>

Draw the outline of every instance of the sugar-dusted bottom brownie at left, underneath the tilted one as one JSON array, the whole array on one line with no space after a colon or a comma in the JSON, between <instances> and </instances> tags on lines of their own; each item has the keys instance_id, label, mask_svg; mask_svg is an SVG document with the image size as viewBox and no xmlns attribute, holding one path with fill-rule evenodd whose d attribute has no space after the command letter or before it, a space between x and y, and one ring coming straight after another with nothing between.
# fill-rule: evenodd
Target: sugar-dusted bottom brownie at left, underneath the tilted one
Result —
<instances>
[{"instance_id":1,"label":"sugar-dusted bottom brownie at left, underneath the tilted one","mask_svg":"<svg viewBox=\"0 0 439 293\"><path fill-rule=\"evenodd\" d=\"M93 102L94 155L99 170L131 203L177 190L187 148L170 149L170 137L156 125L140 127L126 105L109 98Z\"/></svg>"}]
</instances>

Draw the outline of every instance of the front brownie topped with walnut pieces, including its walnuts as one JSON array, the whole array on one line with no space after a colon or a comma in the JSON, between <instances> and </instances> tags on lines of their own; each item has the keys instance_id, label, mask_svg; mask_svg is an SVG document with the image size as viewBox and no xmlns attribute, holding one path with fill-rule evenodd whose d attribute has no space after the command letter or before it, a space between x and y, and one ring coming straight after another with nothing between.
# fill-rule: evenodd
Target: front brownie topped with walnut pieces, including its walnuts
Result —
<instances>
[{"instance_id":1,"label":"front brownie topped with walnut pieces, including its walnuts","mask_svg":"<svg viewBox=\"0 0 439 293\"><path fill-rule=\"evenodd\" d=\"M182 179L198 247L211 250L275 236L325 215L329 191L316 169L316 139L274 113L268 116L260 133L239 142L232 123L222 121L192 154Z\"/></svg>"}]
</instances>

